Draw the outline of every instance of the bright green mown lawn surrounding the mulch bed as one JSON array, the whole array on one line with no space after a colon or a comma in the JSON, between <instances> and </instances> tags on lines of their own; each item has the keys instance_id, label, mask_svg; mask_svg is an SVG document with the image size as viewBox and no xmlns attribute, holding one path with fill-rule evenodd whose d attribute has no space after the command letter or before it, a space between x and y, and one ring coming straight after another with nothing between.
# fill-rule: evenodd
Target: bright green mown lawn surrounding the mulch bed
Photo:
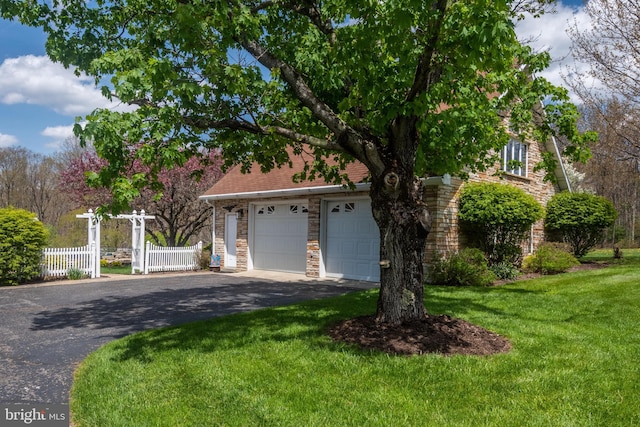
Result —
<instances>
[{"instance_id":1,"label":"bright green mown lawn surrounding the mulch bed","mask_svg":"<svg viewBox=\"0 0 640 427\"><path fill-rule=\"evenodd\" d=\"M593 256L596 256L594 254ZM507 336L491 357L392 357L333 343L376 292L114 341L79 367L77 426L640 425L640 257L494 288L427 287L446 313Z\"/></svg>"}]
</instances>

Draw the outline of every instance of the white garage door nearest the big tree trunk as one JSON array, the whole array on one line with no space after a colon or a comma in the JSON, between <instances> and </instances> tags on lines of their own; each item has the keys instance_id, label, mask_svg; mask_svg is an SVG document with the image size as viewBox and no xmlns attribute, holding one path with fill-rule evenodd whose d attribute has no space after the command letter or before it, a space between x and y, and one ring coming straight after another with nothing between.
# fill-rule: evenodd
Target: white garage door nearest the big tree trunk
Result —
<instances>
[{"instance_id":1,"label":"white garage door nearest the big tree trunk","mask_svg":"<svg viewBox=\"0 0 640 427\"><path fill-rule=\"evenodd\" d=\"M380 280L380 236L367 199L327 202L327 276Z\"/></svg>"}]
</instances>

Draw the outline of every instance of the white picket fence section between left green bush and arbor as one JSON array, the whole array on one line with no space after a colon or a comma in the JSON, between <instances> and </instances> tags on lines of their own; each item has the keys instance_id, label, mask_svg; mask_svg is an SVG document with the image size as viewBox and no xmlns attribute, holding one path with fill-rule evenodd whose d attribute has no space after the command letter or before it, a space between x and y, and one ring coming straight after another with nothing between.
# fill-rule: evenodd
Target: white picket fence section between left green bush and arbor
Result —
<instances>
[{"instance_id":1,"label":"white picket fence section between left green bush and arbor","mask_svg":"<svg viewBox=\"0 0 640 427\"><path fill-rule=\"evenodd\" d=\"M69 270L80 270L87 276L96 277L95 244L77 248L45 248L40 268L42 277L65 277Z\"/></svg>"}]
</instances>

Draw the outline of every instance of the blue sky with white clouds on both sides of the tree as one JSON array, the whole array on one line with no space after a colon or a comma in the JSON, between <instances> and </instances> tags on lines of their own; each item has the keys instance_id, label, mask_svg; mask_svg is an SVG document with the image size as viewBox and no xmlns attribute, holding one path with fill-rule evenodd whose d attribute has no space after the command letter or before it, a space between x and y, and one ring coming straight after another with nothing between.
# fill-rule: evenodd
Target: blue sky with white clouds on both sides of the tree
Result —
<instances>
[{"instance_id":1,"label":"blue sky with white clouds on both sides of the tree","mask_svg":"<svg viewBox=\"0 0 640 427\"><path fill-rule=\"evenodd\" d=\"M549 50L553 62L540 74L556 85L563 85L562 70L575 65L566 33L574 20L586 21L582 0L560 0L555 14L517 26L521 39ZM45 41L37 29L0 19L0 148L20 146L51 155L73 135L76 117L95 108L122 108L103 98L93 79L51 62Z\"/></svg>"}]
</instances>

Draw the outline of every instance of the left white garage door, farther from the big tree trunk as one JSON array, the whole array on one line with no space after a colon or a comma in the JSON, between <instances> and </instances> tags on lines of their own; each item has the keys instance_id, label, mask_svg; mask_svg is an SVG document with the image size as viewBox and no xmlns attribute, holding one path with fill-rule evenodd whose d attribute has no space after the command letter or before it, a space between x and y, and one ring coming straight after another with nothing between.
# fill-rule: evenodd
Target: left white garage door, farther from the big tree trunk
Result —
<instances>
[{"instance_id":1,"label":"left white garage door, farther from the big tree trunk","mask_svg":"<svg viewBox=\"0 0 640 427\"><path fill-rule=\"evenodd\" d=\"M307 258L306 204L266 204L255 207L253 267L304 273Z\"/></svg>"}]
</instances>

